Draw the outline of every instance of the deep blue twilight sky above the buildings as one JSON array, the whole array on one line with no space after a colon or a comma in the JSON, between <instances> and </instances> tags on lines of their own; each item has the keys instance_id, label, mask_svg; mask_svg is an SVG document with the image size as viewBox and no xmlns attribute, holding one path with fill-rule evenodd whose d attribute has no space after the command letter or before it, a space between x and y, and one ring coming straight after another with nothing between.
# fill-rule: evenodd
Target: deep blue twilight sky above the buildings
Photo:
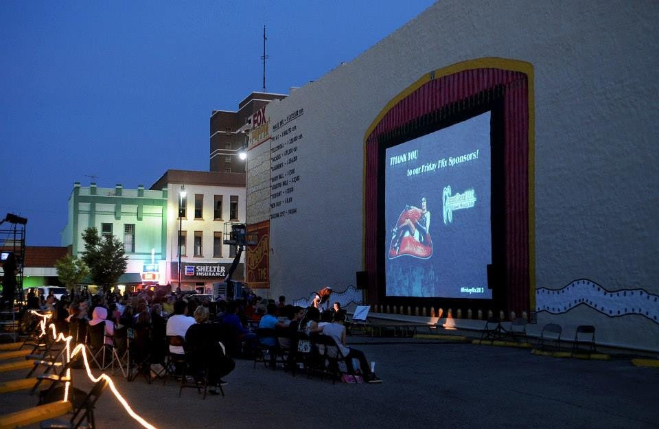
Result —
<instances>
[{"instance_id":1,"label":"deep blue twilight sky above the buildings","mask_svg":"<svg viewBox=\"0 0 659 429\"><path fill-rule=\"evenodd\" d=\"M149 187L208 170L209 117L316 80L432 4L0 1L0 219L59 246L73 182Z\"/></svg>"}]
</instances>

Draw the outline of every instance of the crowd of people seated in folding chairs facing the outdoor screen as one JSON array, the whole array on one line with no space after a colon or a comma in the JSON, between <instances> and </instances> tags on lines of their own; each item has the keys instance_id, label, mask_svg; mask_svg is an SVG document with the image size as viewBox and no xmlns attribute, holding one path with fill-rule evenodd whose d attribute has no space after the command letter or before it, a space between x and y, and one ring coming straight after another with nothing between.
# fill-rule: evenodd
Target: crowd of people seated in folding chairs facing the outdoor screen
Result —
<instances>
[{"instance_id":1,"label":"crowd of people seated in folding chairs facing the outdoor screen","mask_svg":"<svg viewBox=\"0 0 659 429\"><path fill-rule=\"evenodd\" d=\"M89 341L85 329L100 323L105 324L104 343L108 347L117 347L117 336L130 338L122 345L136 347L137 351L130 353L132 359L148 360L146 371L154 375L163 375L167 367L165 359L170 353L198 357L192 371L207 371L211 394L214 386L224 383L222 378L233 371L233 358L251 358L257 347L264 346L273 350L271 364L275 364L279 349L288 350L285 364L293 369L300 363L299 339L313 341L318 335L334 338L346 357L349 372L357 371L352 367L355 358L366 381L379 381L364 353L345 344L345 310L338 303L321 314L313 305L309 308L286 305L284 297L280 297L279 303L258 297L215 302L194 294L160 295L152 291L132 295L89 294L71 290L60 300L52 295L43 298L28 294L27 298L28 306L36 307L34 310L51 312L51 321L56 323L58 331L70 333L75 342ZM277 336L259 338L256 333L259 328L274 329ZM172 344L170 337L181 337L183 343ZM148 344L143 344L144 341ZM123 350L119 356L122 353ZM177 372L180 373L178 369Z\"/></svg>"}]
</instances>

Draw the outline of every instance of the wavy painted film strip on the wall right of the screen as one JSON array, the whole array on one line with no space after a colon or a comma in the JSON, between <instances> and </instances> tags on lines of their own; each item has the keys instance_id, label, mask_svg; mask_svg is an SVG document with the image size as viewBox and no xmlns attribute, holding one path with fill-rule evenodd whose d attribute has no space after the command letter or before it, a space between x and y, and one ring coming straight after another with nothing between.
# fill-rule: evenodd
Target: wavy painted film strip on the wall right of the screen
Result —
<instances>
[{"instance_id":1,"label":"wavy painted film strip on the wall right of the screen","mask_svg":"<svg viewBox=\"0 0 659 429\"><path fill-rule=\"evenodd\" d=\"M638 314L659 323L659 295L643 289L606 290L588 279L575 280L557 290L537 288L535 302L538 312L562 314L588 305L606 316Z\"/></svg>"}]
</instances>

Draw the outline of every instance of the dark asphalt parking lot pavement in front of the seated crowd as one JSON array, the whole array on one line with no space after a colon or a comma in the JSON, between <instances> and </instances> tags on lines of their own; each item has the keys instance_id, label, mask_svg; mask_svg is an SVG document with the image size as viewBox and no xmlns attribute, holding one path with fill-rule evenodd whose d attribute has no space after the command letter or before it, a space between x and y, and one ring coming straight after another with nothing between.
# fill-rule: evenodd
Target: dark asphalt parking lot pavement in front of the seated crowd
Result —
<instances>
[{"instance_id":1,"label":"dark asphalt parking lot pavement in front of the seated crowd","mask_svg":"<svg viewBox=\"0 0 659 429\"><path fill-rule=\"evenodd\" d=\"M115 377L134 410L167 428L659 428L659 369L627 359L577 360L529 349L404 338L350 337L375 360L382 384L293 377L238 360L226 397L202 399L172 380ZM0 373L0 381L27 371ZM88 389L82 370L74 383ZM0 395L1 413L36 404L27 391ZM107 389L98 428L139 428ZM32 427L37 428L38 425Z\"/></svg>"}]
</instances>

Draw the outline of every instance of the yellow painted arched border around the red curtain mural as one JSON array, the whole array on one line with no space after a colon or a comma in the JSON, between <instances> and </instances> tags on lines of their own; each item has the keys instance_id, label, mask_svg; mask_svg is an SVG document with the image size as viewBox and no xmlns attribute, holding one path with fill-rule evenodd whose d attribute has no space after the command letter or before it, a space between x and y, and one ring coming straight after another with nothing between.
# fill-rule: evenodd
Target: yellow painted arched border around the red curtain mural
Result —
<instances>
[{"instance_id":1,"label":"yellow painted arched border around the red curtain mural","mask_svg":"<svg viewBox=\"0 0 659 429\"><path fill-rule=\"evenodd\" d=\"M518 71L527 75L527 100L529 100L529 310L535 311L535 74L530 62L512 60L509 58L483 57L473 60L456 62L442 67L434 72L425 73L416 82L398 93L382 108L380 113L367 128L363 141L363 178L362 178L362 269L366 266L366 143L375 127L380 124L384 115L405 97L430 82L432 78L439 79L454 73L473 69L502 69Z\"/></svg>"}]
</instances>

